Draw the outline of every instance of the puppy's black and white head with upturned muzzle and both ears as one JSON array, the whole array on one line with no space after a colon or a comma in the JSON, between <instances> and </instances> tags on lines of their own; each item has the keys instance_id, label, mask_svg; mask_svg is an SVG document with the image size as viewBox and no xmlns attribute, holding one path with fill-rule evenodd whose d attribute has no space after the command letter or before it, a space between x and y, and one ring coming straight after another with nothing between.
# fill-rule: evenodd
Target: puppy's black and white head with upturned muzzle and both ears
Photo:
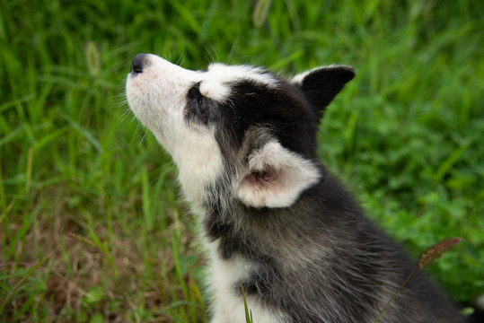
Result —
<instances>
[{"instance_id":1,"label":"puppy's black and white head with upturned muzzle and both ears","mask_svg":"<svg viewBox=\"0 0 484 323\"><path fill-rule=\"evenodd\" d=\"M250 65L194 72L137 54L126 92L136 118L172 155L189 200L203 202L224 183L245 205L286 207L321 179L319 118L354 75L348 66L288 80Z\"/></svg>"}]
</instances>

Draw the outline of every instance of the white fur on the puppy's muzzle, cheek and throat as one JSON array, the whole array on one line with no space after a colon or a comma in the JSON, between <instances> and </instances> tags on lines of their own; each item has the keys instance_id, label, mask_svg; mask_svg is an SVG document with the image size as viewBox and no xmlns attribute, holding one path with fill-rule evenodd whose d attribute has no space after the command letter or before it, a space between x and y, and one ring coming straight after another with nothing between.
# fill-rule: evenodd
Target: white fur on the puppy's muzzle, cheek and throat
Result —
<instances>
[{"instance_id":1,"label":"white fur on the puppy's muzzle, cheek and throat","mask_svg":"<svg viewBox=\"0 0 484 323\"><path fill-rule=\"evenodd\" d=\"M172 155L180 184L192 202L201 201L204 188L223 171L213 132L184 120L187 92L203 81L203 75L148 55L143 73L129 74L126 85L130 109Z\"/></svg>"}]
</instances>

